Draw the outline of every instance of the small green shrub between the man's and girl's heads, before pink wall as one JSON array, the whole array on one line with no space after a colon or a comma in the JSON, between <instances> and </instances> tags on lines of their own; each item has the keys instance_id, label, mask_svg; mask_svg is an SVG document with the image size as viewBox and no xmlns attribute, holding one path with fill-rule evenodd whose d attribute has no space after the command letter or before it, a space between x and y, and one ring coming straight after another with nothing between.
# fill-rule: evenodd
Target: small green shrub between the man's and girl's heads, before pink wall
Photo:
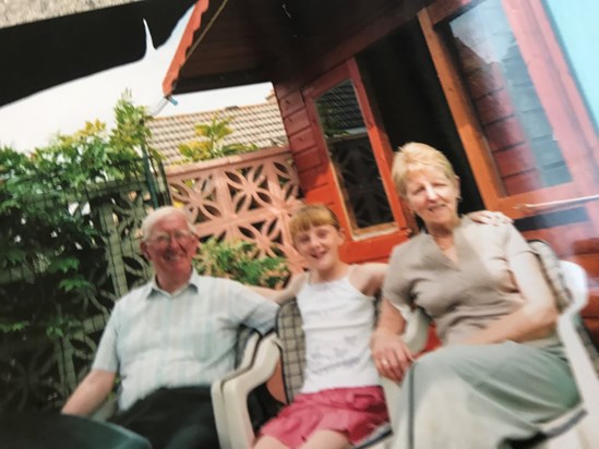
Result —
<instances>
[{"instance_id":1,"label":"small green shrub between the man's and girl's heads, before pink wall","mask_svg":"<svg viewBox=\"0 0 599 449\"><path fill-rule=\"evenodd\" d=\"M201 275L269 288L283 284L289 277L285 258L260 256L251 242L219 242L214 238L201 245L195 268Z\"/></svg>"}]
</instances>

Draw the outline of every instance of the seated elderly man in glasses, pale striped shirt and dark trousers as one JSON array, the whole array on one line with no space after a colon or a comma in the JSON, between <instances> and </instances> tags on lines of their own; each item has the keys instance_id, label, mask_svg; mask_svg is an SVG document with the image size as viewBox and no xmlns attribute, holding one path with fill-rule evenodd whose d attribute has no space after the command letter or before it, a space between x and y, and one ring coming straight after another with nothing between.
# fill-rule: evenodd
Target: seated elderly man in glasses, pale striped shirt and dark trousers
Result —
<instances>
[{"instance_id":1,"label":"seated elderly man in glasses, pale striped shirt and dark trousers","mask_svg":"<svg viewBox=\"0 0 599 449\"><path fill-rule=\"evenodd\" d=\"M161 207L142 225L156 276L117 302L91 373L62 409L87 415L120 377L116 423L154 448L217 448L209 385L233 367L236 331L273 326L276 304L242 284L199 276L187 215Z\"/></svg>"}]
</instances>

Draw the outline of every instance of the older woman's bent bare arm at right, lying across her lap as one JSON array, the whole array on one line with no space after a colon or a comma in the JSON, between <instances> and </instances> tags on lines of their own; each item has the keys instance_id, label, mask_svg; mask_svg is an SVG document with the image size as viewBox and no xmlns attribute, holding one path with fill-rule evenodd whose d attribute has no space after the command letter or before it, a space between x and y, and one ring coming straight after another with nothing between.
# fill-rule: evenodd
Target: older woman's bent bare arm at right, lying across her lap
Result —
<instances>
[{"instance_id":1,"label":"older woman's bent bare arm at right, lying across her lap","mask_svg":"<svg viewBox=\"0 0 599 449\"><path fill-rule=\"evenodd\" d=\"M510 265L525 305L474 333L465 343L522 342L547 337L554 330L559 315L555 300L535 255L522 253L511 258Z\"/></svg>"}]
</instances>

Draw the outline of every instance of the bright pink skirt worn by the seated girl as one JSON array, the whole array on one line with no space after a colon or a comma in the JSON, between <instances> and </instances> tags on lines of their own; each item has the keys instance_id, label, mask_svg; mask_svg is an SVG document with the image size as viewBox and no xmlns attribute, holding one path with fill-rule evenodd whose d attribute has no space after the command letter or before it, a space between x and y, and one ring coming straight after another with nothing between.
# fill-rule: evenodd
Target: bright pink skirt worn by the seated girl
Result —
<instances>
[{"instance_id":1,"label":"bright pink skirt worn by the seated girl","mask_svg":"<svg viewBox=\"0 0 599 449\"><path fill-rule=\"evenodd\" d=\"M334 430L357 445L387 422L381 387L334 388L298 395L261 428L260 435L297 448L316 430Z\"/></svg>"}]
</instances>

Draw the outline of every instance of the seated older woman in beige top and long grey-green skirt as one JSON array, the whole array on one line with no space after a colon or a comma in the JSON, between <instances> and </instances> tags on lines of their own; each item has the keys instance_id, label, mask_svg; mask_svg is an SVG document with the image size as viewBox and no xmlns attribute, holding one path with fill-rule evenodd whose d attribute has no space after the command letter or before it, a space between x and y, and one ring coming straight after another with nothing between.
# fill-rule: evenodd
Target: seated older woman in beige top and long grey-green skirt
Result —
<instances>
[{"instance_id":1,"label":"seated older woman in beige top and long grey-green skirt","mask_svg":"<svg viewBox=\"0 0 599 449\"><path fill-rule=\"evenodd\" d=\"M381 375L402 380L395 449L508 448L576 404L558 311L535 255L508 223L459 217L459 179L436 149L400 148L400 196L426 230L396 246L372 338ZM414 361L403 306L434 320L442 348Z\"/></svg>"}]
</instances>

